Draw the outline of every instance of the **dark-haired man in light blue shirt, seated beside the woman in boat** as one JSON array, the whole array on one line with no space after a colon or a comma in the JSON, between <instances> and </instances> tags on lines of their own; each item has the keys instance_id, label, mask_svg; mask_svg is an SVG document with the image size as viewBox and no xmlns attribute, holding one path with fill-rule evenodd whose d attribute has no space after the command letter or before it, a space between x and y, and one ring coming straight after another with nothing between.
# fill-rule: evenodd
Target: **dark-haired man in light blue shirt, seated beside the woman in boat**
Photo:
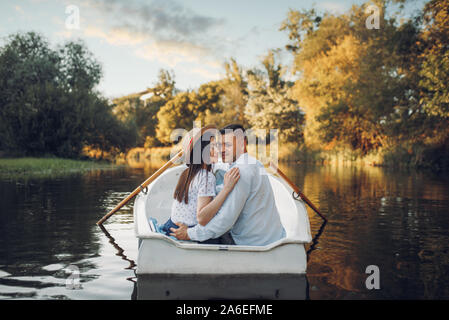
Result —
<instances>
[{"instance_id":1,"label":"dark-haired man in light blue shirt, seated beside the woman in boat","mask_svg":"<svg viewBox=\"0 0 449 320\"><path fill-rule=\"evenodd\" d=\"M239 181L207 225L188 228L179 224L178 229L172 228L171 235L177 239L206 241L230 231L237 245L263 246L285 237L265 168L248 155L244 131L236 124L220 130L223 162L239 168Z\"/></svg>"}]
</instances>

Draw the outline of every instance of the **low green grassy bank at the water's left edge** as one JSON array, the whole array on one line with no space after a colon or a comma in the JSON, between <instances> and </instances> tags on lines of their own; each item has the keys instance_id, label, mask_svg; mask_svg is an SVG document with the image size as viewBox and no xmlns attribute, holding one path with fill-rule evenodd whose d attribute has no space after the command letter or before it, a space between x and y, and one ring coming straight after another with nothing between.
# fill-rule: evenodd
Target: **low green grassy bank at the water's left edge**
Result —
<instances>
[{"instance_id":1,"label":"low green grassy bank at the water's left edge","mask_svg":"<svg viewBox=\"0 0 449 320\"><path fill-rule=\"evenodd\" d=\"M112 169L108 162L62 158L0 158L0 178L54 176L99 169Z\"/></svg>"}]
</instances>

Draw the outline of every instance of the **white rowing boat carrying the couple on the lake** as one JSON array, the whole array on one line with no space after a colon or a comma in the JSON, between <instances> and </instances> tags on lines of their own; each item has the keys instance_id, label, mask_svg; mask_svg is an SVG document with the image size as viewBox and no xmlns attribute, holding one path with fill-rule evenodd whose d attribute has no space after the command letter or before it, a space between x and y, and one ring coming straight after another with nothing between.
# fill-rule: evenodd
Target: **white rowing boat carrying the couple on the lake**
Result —
<instances>
[{"instance_id":1,"label":"white rowing boat carrying the couple on the lake","mask_svg":"<svg viewBox=\"0 0 449 320\"><path fill-rule=\"evenodd\" d=\"M166 170L134 202L135 234L139 239L137 275L304 275L305 244L312 239L305 204L293 190L269 174L286 238L266 246L198 244L155 232L149 218L164 223L170 216L173 191L186 167Z\"/></svg>"}]
</instances>

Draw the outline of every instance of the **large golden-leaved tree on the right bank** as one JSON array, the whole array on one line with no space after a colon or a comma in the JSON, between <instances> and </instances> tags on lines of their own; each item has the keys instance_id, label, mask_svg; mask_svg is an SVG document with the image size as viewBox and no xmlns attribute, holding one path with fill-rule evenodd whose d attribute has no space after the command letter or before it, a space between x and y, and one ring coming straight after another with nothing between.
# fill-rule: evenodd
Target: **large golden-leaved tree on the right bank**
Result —
<instances>
[{"instance_id":1,"label":"large golden-leaved tree on the right bank","mask_svg":"<svg viewBox=\"0 0 449 320\"><path fill-rule=\"evenodd\" d=\"M339 16L291 12L283 25L293 42L299 76L293 95L306 113L310 148L324 143L365 155L390 146L400 128L418 118L416 25L398 26L394 15L386 18L388 1L375 3L378 30L365 26L366 4Z\"/></svg>"}]
</instances>

